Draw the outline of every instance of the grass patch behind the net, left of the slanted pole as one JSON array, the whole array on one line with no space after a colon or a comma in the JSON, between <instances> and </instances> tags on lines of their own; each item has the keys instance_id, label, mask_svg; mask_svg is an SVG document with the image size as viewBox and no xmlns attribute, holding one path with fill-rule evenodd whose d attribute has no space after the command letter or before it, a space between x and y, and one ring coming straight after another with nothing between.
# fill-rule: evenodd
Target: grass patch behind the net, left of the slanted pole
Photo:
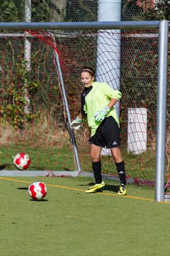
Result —
<instances>
[{"instance_id":1,"label":"grass patch behind the net, left of the slanted pole","mask_svg":"<svg viewBox=\"0 0 170 256\"><path fill-rule=\"evenodd\" d=\"M6 170L16 170L13 165L12 156L19 152L25 152L30 156L31 164L29 170L74 170L74 159L72 149L63 147L62 149L52 148L35 148L26 145L11 144L10 146L1 146L1 166ZM2 168L1 168L2 169Z\"/></svg>"}]
</instances>

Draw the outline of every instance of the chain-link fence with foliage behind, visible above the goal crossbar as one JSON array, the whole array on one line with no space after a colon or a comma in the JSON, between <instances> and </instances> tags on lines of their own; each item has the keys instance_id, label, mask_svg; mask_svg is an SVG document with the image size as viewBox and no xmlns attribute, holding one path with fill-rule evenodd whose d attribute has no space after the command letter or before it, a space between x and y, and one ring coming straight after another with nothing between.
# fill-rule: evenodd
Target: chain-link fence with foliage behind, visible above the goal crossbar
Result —
<instances>
[{"instance_id":1,"label":"chain-link fence with foliage behind, visible above the goal crossbar","mask_svg":"<svg viewBox=\"0 0 170 256\"><path fill-rule=\"evenodd\" d=\"M156 6L157 3L157 6ZM160 3L163 3L160 4ZM122 21L161 20L170 14L169 1L123 0ZM159 9L157 8L159 7ZM1 22L97 21L97 0L1 0Z\"/></svg>"}]
</instances>

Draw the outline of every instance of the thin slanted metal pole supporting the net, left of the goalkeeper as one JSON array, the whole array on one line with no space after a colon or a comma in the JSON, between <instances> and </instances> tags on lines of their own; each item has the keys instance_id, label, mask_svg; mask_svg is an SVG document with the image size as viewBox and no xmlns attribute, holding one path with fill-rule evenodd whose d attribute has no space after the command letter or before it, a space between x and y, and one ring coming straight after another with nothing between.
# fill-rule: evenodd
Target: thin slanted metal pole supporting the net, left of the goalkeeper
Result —
<instances>
[{"instance_id":1,"label":"thin slanted metal pole supporting the net, left of the goalkeeper","mask_svg":"<svg viewBox=\"0 0 170 256\"><path fill-rule=\"evenodd\" d=\"M67 94L66 94L65 86L64 86L62 68L61 68L60 59L59 59L59 56L58 56L56 50L55 50L55 60L56 60L56 63L57 63L57 69L58 69L59 76L60 76L61 87L62 87L62 95L63 95L63 99L64 99L64 105L65 105L65 108L66 108L67 119L68 119L68 122L69 122L69 130L70 130L70 134L71 134L71 137L72 137L72 145L73 145L73 150L74 150L74 156L75 156L75 160L76 160L76 163L77 163L77 170L76 171L81 171L81 166L80 166L80 162L79 162L79 154L78 154L78 151L77 151L77 145L76 145L76 140L75 140L75 137L74 137L74 132L72 130L72 124L71 124L72 121L71 121L71 117L70 117L70 114L69 114L69 106L68 106Z\"/></svg>"}]
</instances>

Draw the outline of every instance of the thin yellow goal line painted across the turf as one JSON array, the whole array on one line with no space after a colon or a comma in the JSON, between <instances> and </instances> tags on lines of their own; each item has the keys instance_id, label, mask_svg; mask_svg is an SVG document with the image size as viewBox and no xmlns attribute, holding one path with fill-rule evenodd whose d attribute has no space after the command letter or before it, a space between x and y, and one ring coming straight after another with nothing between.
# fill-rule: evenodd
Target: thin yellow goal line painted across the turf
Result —
<instances>
[{"instance_id":1,"label":"thin yellow goal line painted across the turf","mask_svg":"<svg viewBox=\"0 0 170 256\"><path fill-rule=\"evenodd\" d=\"M6 178L6 177L0 177L1 180L5 180L5 181L16 181L16 182L21 182L21 183L31 183L30 181L23 181L23 180L19 180L17 178ZM69 189L69 190L72 190L72 191L83 191L84 192L84 189L81 189L81 188L72 188L72 187L68 187L68 186L60 186L60 185L53 185L53 184L47 184L45 183L47 186L50 186L50 187L53 187L53 188L64 188L64 189ZM100 192L98 192L100 193ZM121 196L118 196L117 194L114 194L114 193L108 193L108 192L102 192L100 193L102 194L103 196L116 196L116 197L121 197ZM122 198L131 198L131 199L136 199L136 200L142 200L142 201L148 201L148 202L154 202L154 199L151 199L151 198L142 198L142 197L139 197L139 196L122 196ZM168 201L162 201L162 202L157 202L157 203L170 203Z\"/></svg>"}]
</instances>

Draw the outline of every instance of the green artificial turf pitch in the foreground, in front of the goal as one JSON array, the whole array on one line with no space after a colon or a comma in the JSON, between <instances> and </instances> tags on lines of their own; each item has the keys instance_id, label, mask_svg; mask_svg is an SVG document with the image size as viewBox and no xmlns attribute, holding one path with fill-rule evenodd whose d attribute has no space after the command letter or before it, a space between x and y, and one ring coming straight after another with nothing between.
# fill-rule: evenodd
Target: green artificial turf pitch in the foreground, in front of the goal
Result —
<instances>
[{"instance_id":1,"label":"green artificial turf pitch in the foreground, in front of the goal","mask_svg":"<svg viewBox=\"0 0 170 256\"><path fill-rule=\"evenodd\" d=\"M44 201L28 186L47 185ZM154 202L154 190L106 181L103 193L86 194L93 179L0 177L1 255L169 255L170 203Z\"/></svg>"}]
</instances>

